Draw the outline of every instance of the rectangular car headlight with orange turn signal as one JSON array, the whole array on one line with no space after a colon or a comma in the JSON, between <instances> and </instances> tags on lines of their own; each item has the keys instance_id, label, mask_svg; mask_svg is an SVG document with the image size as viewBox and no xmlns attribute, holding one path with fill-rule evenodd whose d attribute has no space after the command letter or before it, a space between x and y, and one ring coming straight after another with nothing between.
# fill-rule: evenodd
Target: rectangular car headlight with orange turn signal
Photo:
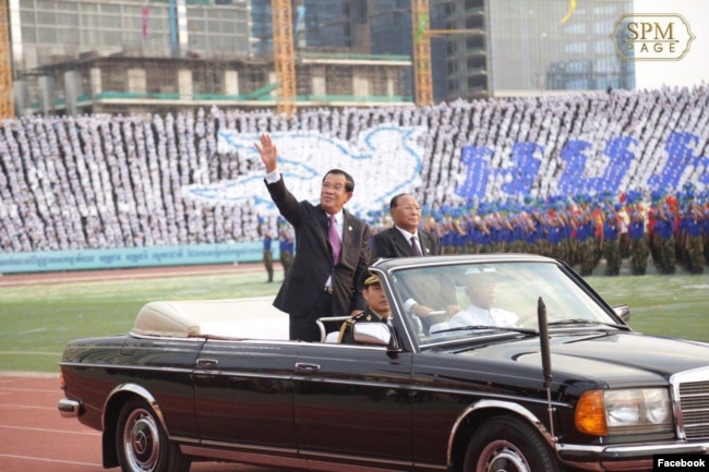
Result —
<instances>
[{"instance_id":1,"label":"rectangular car headlight with orange turn signal","mask_svg":"<svg viewBox=\"0 0 709 472\"><path fill-rule=\"evenodd\" d=\"M664 388L589 390L576 406L575 423L594 436L671 432L670 394Z\"/></svg>"}]
</instances>

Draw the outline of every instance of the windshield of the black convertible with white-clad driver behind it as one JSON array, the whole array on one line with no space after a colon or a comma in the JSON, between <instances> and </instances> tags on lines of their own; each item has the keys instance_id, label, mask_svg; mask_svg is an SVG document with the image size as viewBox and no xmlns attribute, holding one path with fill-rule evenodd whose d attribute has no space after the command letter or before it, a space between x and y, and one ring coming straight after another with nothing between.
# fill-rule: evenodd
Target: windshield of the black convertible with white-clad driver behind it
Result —
<instances>
[{"instance_id":1,"label":"windshield of the black convertible with white-clad driver behind it","mask_svg":"<svg viewBox=\"0 0 709 472\"><path fill-rule=\"evenodd\" d=\"M624 327L554 263L432 265L392 275L394 296L421 346L491 332L536 336L540 298L551 329Z\"/></svg>"}]
</instances>

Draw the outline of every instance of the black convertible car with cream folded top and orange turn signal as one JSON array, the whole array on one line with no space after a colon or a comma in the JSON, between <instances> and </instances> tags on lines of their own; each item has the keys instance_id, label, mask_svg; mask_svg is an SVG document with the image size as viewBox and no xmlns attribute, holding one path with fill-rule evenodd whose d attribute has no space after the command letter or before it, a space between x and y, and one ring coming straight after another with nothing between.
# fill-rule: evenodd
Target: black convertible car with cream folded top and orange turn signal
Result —
<instances>
[{"instance_id":1,"label":"black convertible car with cream folded top and orange turn signal","mask_svg":"<svg viewBox=\"0 0 709 472\"><path fill-rule=\"evenodd\" d=\"M337 343L343 314L321 320L322 342L296 342L269 306L148 303L129 334L67 346L59 411L101 431L104 467L127 472L649 470L653 455L708 453L709 344L634 332L564 264L371 271L394 327L357 323L354 344Z\"/></svg>"}]
</instances>

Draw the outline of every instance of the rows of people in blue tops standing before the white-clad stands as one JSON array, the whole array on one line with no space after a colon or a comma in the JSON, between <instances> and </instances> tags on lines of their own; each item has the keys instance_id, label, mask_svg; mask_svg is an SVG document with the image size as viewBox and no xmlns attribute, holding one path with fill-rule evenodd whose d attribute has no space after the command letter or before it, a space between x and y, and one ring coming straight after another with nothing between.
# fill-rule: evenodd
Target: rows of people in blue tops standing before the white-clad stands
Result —
<instances>
[{"instance_id":1,"label":"rows of people in blue tops standing before the white-clad stands","mask_svg":"<svg viewBox=\"0 0 709 472\"><path fill-rule=\"evenodd\" d=\"M702 207L692 184L680 198L656 191L649 204L638 192L614 199L577 195L444 208L426 214L424 229L441 238L444 254L541 254L578 266L582 276L601 261L605 275L617 276L623 259L634 275L645 275L649 262L660 274L674 274L678 266L704 273L709 206ZM387 227L381 218L374 231Z\"/></svg>"}]
</instances>

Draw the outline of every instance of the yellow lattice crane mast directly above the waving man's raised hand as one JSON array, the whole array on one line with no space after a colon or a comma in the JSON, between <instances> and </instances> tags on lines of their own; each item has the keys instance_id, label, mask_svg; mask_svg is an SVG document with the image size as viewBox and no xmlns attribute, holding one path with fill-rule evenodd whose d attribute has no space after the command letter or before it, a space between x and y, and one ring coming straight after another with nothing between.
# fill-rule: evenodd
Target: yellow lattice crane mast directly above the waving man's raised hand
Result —
<instances>
[{"instance_id":1,"label":"yellow lattice crane mast directly above the waving man's raised hand","mask_svg":"<svg viewBox=\"0 0 709 472\"><path fill-rule=\"evenodd\" d=\"M276 113L288 119L296 110L296 51L290 0L271 0L274 65L276 68Z\"/></svg>"}]
</instances>

